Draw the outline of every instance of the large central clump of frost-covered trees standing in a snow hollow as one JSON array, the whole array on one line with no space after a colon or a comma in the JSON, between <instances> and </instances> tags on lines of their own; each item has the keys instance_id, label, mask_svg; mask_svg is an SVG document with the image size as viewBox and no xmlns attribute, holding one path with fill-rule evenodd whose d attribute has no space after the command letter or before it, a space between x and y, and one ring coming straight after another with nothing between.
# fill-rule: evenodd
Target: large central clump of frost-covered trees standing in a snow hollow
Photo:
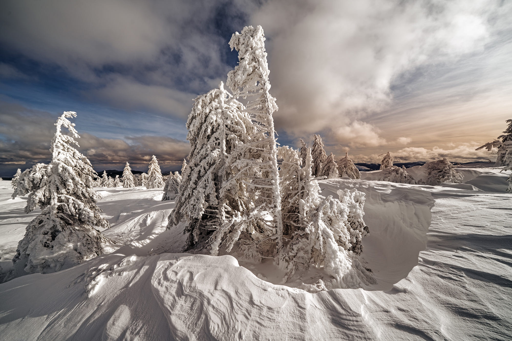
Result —
<instances>
[{"instance_id":1,"label":"large central clump of frost-covered trees standing in a snow hollow","mask_svg":"<svg viewBox=\"0 0 512 341\"><path fill-rule=\"evenodd\" d=\"M233 34L229 45L239 64L228 74L232 95L221 83L196 98L187 121L189 162L167 227L184 226L187 249L271 258L285 280L315 265L332 276L321 289L369 284L358 258L368 233L364 193L319 194L316 176L338 177L319 135L313 151L304 143L300 154L277 147L272 114L278 106L269 92L264 41L261 26Z\"/></svg>"}]
</instances>

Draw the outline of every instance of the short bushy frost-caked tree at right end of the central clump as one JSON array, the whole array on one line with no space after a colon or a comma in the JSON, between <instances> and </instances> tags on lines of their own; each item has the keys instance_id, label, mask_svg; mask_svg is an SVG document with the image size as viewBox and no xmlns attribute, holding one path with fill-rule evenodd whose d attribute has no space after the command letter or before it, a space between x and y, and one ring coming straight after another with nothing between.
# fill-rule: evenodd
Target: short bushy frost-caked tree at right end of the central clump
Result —
<instances>
[{"instance_id":1,"label":"short bushy frost-caked tree at right end of the central clump","mask_svg":"<svg viewBox=\"0 0 512 341\"><path fill-rule=\"evenodd\" d=\"M291 160L296 159L298 157L292 155ZM295 166L292 169L297 171ZM294 182L298 187L293 192L300 197L298 214L290 226L285 250L279 255L279 266L286 271L285 281L296 269L304 270L314 265L323 266L333 278L325 284L319 283L318 290L374 283L356 257L362 251L361 239L368 233L362 220L365 194L357 190L340 190L339 199L326 198L318 193L320 188L311 169L309 150L302 169L303 178Z\"/></svg>"}]
</instances>

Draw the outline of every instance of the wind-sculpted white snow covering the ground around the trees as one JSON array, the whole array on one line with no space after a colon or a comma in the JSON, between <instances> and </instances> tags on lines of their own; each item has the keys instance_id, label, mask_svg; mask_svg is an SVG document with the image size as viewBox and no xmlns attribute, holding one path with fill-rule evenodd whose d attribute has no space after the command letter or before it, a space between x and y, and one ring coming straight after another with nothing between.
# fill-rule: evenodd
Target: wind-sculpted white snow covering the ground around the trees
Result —
<instances>
[{"instance_id":1,"label":"wind-sculpted white snow covering the ground around the trees","mask_svg":"<svg viewBox=\"0 0 512 341\"><path fill-rule=\"evenodd\" d=\"M186 236L165 230L174 202L159 201L160 190L98 189L113 223L105 235L122 246L0 284L0 339L510 339L512 194L496 169L463 171L465 184L434 187L320 181L323 195L367 193L373 291L309 293L272 284L270 264L180 254ZM11 192L0 181L4 272L37 214Z\"/></svg>"}]
</instances>

